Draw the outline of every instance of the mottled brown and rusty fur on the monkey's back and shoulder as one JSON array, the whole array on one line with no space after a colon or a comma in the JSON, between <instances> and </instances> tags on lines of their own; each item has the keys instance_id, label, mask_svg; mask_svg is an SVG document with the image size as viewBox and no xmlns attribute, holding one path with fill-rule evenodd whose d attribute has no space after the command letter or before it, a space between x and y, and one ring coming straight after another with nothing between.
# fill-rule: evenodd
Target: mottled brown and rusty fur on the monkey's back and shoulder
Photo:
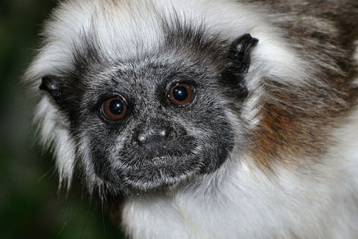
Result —
<instances>
[{"instance_id":1,"label":"mottled brown and rusty fur on the monkey's back and shoulder","mask_svg":"<svg viewBox=\"0 0 358 239\"><path fill-rule=\"evenodd\" d=\"M280 18L273 17L272 23L286 32L282 37L316 72L304 87L264 80L268 96L261 101L261 121L253 132L251 155L260 168L271 170L275 162L320 160L334 144L331 130L357 105L358 89L352 83L358 78L353 60L358 2L315 1L308 5L278 0L265 6L281 14Z\"/></svg>"}]
</instances>

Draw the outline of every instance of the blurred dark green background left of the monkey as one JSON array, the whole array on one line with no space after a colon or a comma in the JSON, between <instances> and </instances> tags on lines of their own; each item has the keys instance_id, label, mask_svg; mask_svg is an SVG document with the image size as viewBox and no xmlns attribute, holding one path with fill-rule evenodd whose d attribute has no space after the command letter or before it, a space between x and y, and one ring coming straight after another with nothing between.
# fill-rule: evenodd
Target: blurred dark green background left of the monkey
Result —
<instances>
[{"instance_id":1,"label":"blurred dark green background left of the monkey","mask_svg":"<svg viewBox=\"0 0 358 239\"><path fill-rule=\"evenodd\" d=\"M34 103L20 84L54 0L0 0L0 238L121 239L98 203L65 193L34 144Z\"/></svg>"}]
</instances>

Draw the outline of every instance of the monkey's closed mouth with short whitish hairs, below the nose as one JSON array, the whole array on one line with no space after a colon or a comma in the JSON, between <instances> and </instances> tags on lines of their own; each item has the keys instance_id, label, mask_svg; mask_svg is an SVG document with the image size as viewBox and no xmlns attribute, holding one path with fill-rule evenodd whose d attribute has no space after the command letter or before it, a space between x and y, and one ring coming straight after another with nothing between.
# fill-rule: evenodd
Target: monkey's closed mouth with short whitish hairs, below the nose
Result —
<instances>
[{"instance_id":1,"label":"monkey's closed mouth with short whitish hairs, below the nose","mask_svg":"<svg viewBox=\"0 0 358 239\"><path fill-rule=\"evenodd\" d=\"M154 147L129 145L110 162L109 182L129 193L166 190L201 174L208 161L206 145L193 138Z\"/></svg>"}]
</instances>

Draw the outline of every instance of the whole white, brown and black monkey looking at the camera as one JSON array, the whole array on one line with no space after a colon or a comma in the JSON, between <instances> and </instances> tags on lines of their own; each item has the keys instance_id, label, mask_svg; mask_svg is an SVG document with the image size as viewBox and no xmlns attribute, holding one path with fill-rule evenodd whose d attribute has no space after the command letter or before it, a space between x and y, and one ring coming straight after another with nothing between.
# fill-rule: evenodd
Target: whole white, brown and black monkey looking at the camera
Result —
<instances>
[{"instance_id":1,"label":"whole white, brown and black monkey looking at the camera","mask_svg":"<svg viewBox=\"0 0 358 239\"><path fill-rule=\"evenodd\" d=\"M25 81L128 238L356 239L357 44L356 0L62 0Z\"/></svg>"}]
</instances>

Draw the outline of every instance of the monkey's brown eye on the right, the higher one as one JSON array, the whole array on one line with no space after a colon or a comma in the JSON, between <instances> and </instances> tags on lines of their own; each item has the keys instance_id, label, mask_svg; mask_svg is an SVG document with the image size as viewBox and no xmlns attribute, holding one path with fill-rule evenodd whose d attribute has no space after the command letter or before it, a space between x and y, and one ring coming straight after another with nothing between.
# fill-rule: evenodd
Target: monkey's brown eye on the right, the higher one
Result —
<instances>
[{"instance_id":1,"label":"monkey's brown eye on the right, the higher one","mask_svg":"<svg viewBox=\"0 0 358 239\"><path fill-rule=\"evenodd\" d=\"M194 99L195 88L189 84L178 83L170 88L168 97L173 104L182 106Z\"/></svg>"}]
</instances>

